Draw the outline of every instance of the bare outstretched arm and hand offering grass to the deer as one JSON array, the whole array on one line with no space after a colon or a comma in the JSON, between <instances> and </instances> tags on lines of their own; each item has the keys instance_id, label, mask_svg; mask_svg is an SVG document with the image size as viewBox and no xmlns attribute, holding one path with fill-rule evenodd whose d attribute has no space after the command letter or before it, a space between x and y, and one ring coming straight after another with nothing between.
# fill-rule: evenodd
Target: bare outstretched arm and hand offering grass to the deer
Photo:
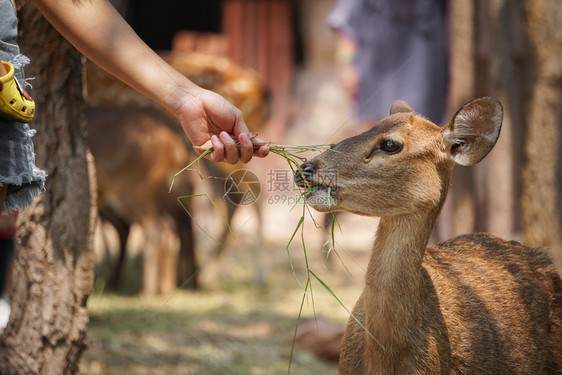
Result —
<instances>
[{"instance_id":1,"label":"bare outstretched arm and hand offering grass to the deer","mask_svg":"<svg viewBox=\"0 0 562 375\"><path fill-rule=\"evenodd\" d=\"M254 151L242 113L195 85L150 49L107 0L33 0L51 24L88 59L175 114L195 146L229 163L264 157ZM255 142L263 143L255 140Z\"/></svg>"}]
</instances>

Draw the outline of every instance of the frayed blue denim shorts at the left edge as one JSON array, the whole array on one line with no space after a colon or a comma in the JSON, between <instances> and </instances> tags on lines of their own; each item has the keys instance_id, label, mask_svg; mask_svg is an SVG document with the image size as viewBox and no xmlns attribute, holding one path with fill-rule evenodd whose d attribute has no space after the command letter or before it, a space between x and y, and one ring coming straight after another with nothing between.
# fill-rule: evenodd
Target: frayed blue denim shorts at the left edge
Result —
<instances>
[{"instance_id":1,"label":"frayed blue denim shorts at the left edge","mask_svg":"<svg viewBox=\"0 0 562 375\"><path fill-rule=\"evenodd\" d=\"M20 87L26 87L23 67L29 59L20 54L16 37L14 5L11 0L0 0L0 60L14 65ZM31 206L45 187L47 174L35 166L34 134L29 124L0 117L0 187L8 186L4 212Z\"/></svg>"}]
</instances>

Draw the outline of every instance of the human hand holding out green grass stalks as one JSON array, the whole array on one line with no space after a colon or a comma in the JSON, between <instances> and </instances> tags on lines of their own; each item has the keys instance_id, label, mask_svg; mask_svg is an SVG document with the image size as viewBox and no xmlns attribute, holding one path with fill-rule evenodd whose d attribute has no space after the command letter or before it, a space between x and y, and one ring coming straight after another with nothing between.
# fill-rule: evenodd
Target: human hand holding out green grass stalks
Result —
<instances>
[{"instance_id":1,"label":"human hand holding out green grass stalks","mask_svg":"<svg viewBox=\"0 0 562 375\"><path fill-rule=\"evenodd\" d=\"M219 94L197 88L185 95L175 112L197 152L213 148L210 160L247 163L252 156L269 153L264 141L250 138L242 112Z\"/></svg>"}]
</instances>

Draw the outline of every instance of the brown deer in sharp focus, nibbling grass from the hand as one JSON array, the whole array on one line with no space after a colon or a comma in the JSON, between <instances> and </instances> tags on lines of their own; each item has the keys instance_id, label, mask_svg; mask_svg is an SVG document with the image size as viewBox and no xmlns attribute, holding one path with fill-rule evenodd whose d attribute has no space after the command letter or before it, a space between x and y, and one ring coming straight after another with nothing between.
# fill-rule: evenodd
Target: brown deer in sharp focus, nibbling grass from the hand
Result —
<instances>
[{"instance_id":1,"label":"brown deer in sharp focus, nibbling grass from the hand","mask_svg":"<svg viewBox=\"0 0 562 375\"><path fill-rule=\"evenodd\" d=\"M380 217L340 374L562 374L562 281L545 250L486 233L427 247L453 167L490 152L502 117L482 97L439 127L395 101L295 173L314 209Z\"/></svg>"}]
</instances>

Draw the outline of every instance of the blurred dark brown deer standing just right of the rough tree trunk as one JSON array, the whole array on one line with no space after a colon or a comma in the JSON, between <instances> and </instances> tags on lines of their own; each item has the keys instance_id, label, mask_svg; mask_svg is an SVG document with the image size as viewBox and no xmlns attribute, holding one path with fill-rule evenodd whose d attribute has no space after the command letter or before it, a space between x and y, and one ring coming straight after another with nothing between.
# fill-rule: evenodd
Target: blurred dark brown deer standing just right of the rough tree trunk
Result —
<instances>
[{"instance_id":1,"label":"blurred dark brown deer standing just right of the rough tree trunk","mask_svg":"<svg viewBox=\"0 0 562 375\"><path fill-rule=\"evenodd\" d=\"M139 223L146 235L143 289L147 294L169 293L176 280L162 283L166 271L161 262L169 255L159 238L166 218L173 222L180 241L177 281L196 288L197 271L191 219L175 197L191 194L189 175L179 175L173 194L168 193L170 175L185 167L189 148L175 121L153 108L88 108L87 144L94 155L98 183L98 213L110 222L119 236L119 256L109 280L112 288L121 284L126 246L132 223ZM189 207L189 201L184 202ZM173 278L173 275L171 276ZM171 284L171 285L170 285Z\"/></svg>"}]
</instances>

